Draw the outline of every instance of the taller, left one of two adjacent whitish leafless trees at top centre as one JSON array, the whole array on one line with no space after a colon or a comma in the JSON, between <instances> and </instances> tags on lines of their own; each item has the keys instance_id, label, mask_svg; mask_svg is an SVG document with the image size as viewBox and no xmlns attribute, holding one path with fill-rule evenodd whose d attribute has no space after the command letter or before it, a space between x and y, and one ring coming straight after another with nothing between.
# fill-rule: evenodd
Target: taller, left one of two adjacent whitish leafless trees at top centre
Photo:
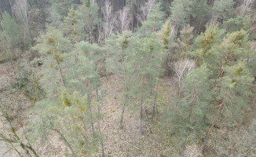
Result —
<instances>
[{"instance_id":1,"label":"taller, left one of two adjacent whitish leafless trees at top centre","mask_svg":"<svg viewBox=\"0 0 256 157\"><path fill-rule=\"evenodd\" d=\"M102 7L102 13L104 17L103 30L105 39L109 38L112 35L112 32L115 30L116 17L113 16L112 11L113 6L111 5L111 2L106 1L105 5Z\"/></svg>"}]
</instances>

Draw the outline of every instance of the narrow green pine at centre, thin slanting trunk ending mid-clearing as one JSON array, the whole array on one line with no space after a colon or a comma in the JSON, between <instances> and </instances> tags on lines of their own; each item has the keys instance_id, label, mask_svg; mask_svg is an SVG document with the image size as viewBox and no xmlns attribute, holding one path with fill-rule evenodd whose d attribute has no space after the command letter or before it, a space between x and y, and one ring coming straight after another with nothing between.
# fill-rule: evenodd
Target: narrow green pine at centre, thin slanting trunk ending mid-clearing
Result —
<instances>
[{"instance_id":1,"label":"narrow green pine at centre, thin slanting trunk ending mid-clearing","mask_svg":"<svg viewBox=\"0 0 256 157\"><path fill-rule=\"evenodd\" d=\"M123 128L123 115L129 102L129 91L130 91L130 75L129 75L129 52L133 49L131 44L135 38L132 37L130 31L124 31L123 35L113 35L109 38L106 43L108 50L106 63L107 63L107 74L114 73L116 75L123 76L123 104L122 114L120 119L120 128Z\"/></svg>"}]
</instances>

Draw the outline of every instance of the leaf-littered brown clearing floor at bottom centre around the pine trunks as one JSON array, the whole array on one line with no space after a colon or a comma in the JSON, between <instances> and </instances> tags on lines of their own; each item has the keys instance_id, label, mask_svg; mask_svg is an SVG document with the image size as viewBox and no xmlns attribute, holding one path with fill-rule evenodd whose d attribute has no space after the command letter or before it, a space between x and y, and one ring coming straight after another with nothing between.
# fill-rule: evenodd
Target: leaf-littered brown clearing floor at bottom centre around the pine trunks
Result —
<instances>
[{"instance_id":1,"label":"leaf-littered brown clearing floor at bottom centre around the pine trunks","mask_svg":"<svg viewBox=\"0 0 256 157\"><path fill-rule=\"evenodd\" d=\"M144 108L144 133L139 131L139 108L130 104L126 108L123 129L120 129L122 104L120 100L119 77L112 75L108 80L108 96L106 104L101 107L103 119L101 132L104 137L106 156L164 156L168 144L163 136L152 128L150 118L152 108ZM115 89L116 88L116 89ZM116 90L116 96L115 96ZM100 154L98 155L100 156Z\"/></svg>"}]
</instances>

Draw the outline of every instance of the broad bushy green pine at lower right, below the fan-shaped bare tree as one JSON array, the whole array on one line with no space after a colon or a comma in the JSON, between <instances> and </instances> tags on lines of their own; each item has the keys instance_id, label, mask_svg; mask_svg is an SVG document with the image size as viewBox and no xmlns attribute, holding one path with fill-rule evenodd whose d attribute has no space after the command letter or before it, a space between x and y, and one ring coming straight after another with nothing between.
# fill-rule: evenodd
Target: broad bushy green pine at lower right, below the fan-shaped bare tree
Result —
<instances>
[{"instance_id":1,"label":"broad bushy green pine at lower right, below the fan-shaped bare tree","mask_svg":"<svg viewBox=\"0 0 256 157\"><path fill-rule=\"evenodd\" d=\"M211 75L205 64L196 68L185 77L181 95L164 106L161 123L177 138L174 147L180 152L189 141L199 141L209 127L207 115L214 96Z\"/></svg>"}]
</instances>

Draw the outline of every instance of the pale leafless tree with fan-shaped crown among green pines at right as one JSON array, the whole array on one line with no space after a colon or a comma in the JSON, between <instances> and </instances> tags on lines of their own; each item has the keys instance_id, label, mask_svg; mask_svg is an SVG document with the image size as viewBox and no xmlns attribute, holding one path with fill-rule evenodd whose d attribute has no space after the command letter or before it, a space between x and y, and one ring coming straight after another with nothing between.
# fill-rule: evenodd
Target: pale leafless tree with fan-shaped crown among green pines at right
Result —
<instances>
[{"instance_id":1,"label":"pale leafless tree with fan-shaped crown among green pines at right","mask_svg":"<svg viewBox=\"0 0 256 157\"><path fill-rule=\"evenodd\" d=\"M174 71L178 79L177 95L180 95L181 90L183 89L182 80L185 78L185 76L190 75L195 68L195 62L188 59L179 60L174 63Z\"/></svg>"}]
</instances>

